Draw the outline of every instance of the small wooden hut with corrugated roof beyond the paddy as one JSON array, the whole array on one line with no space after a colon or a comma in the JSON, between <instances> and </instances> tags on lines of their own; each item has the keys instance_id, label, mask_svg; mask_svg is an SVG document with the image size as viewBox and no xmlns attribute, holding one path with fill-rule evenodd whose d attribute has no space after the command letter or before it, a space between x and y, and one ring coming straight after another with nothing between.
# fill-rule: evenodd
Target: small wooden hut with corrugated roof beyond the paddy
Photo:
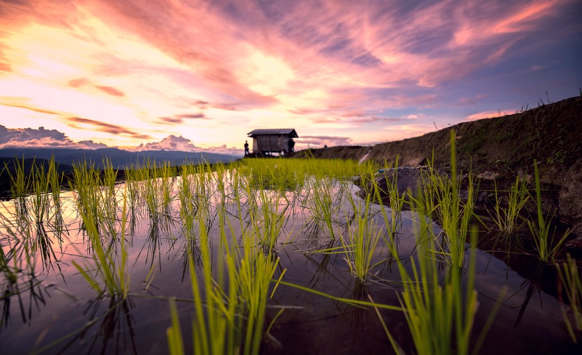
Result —
<instances>
[{"instance_id":1,"label":"small wooden hut with corrugated roof beyond the paddy","mask_svg":"<svg viewBox=\"0 0 582 355\"><path fill-rule=\"evenodd\" d=\"M257 155L292 152L293 138L299 138L293 128L254 129L247 136L252 138L252 152Z\"/></svg>"}]
</instances>

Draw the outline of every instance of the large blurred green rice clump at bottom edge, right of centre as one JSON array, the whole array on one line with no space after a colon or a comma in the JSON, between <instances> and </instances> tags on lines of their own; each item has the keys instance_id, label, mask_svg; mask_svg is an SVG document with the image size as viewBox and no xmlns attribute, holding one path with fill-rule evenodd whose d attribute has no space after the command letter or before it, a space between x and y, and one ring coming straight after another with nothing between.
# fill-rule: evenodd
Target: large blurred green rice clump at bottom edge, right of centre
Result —
<instances>
[{"instance_id":1,"label":"large blurred green rice clump at bottom edge, right of centre","mask_svg":"<svg viewBox=\"0 0 582 355\"><path fill-rule=\"evenodd\" d=\"M423 213L424 208L417 206L417 210L420 243L417 257L410 260L412 274L409 274L404 264L397 258L404 287L399 294L399 300L412 334L415 352L417 354L468 354L478 306L477 292L474 290L477 230L473 228L470 233L471 247L466 284L461 281L461 267L454 264L449 265L447 276L442 284L438 273L440 269L438 264L441 261L438 260L431 226L426 214ZM500 297L504 294L505 291ZM500 302L491 310L489 319L473 347L473 354L479 352L499 306ZM381 317L379 313L378 317ZM381 322L395 352L401 354L401 348L390 334L383 319Z\"/></svg>"}]
</instances>

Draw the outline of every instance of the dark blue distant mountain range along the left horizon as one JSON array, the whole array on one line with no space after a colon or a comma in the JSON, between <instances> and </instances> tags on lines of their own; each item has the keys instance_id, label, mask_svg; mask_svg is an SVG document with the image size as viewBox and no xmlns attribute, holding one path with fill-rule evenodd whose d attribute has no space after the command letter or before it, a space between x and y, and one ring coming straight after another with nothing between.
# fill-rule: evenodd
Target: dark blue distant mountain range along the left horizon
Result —
<instances>
[{"instance_id":1,"label":"dark blue distant mountain range along the left horizon","mask_svg":"<svg viewBox=\"0 0 582 355\"><path fill-rule=\"evenodd\" d=\"M144 150L142 152L129 152L118 148L89 149L69 149L69 148L4 148L0 149L0 159L50 159L59 164L71 165L73 163L89 161L95 163L95 167L102 167L102 161L109 159L114 168L125 169L135 164L141 164L146 160L151 163L169 162L171 165L181 164L201 164L201 163L228 163L236 160L237 157L208 152L181 152L174 150ZM0 166L0 169L3 166Z\"/></svg>"}]
</instances>

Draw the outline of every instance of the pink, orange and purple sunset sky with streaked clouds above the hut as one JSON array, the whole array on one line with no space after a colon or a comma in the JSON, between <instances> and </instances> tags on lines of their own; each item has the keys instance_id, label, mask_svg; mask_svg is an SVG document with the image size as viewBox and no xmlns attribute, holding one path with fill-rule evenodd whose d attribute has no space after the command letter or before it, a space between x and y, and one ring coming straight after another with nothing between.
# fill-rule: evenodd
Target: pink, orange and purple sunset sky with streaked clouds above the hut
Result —
<instances>
[{"instance_id":1,"label":"pink, orange and purple sunset sky with streaked clouds above the hut","mask_svg":"<svg viewBox=\"0 0 582 355\"><path fill-rule=\"evenodd\" d=\"M582 95L582 1L0 0L0 148L371 145Z\"/></svg>"}]
</instances>

